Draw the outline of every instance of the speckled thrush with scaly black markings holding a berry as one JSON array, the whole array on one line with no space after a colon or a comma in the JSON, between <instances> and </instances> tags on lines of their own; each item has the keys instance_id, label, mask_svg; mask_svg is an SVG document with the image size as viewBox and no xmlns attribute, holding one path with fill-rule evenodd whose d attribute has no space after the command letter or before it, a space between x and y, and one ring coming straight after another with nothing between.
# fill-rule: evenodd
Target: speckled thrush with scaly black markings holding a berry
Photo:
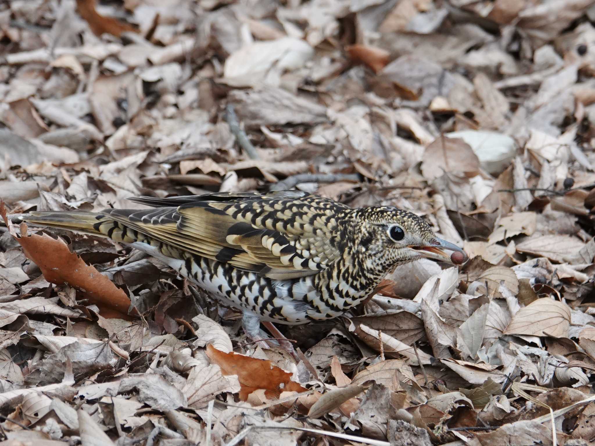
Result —
<instances>
[{"instance_id":1,"label":"speckled thrush with scaly black markings holding a berry","mask_svg":"<svg viewBox=\"0 0 595 446\"><path fill-rule=\"evenodd\" d=\"M29 212L17 221L109 237L156 257L240 310L254 341L263 339L261 322L343 315L404 263L468 260L423 218L392 206L350 208L297 190L130 200L149 208Z\"/></svg>"}]
</instances>

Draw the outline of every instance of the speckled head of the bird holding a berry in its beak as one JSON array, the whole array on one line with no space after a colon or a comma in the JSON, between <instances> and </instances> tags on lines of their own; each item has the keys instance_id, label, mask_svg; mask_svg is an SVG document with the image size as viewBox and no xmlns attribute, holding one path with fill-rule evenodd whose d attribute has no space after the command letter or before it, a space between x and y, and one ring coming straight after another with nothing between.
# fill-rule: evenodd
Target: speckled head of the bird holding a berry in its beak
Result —
<instances>
[{"instance_id":1,"label":"speckled head of the bird holding a berry in its beak","mask_svg":"<svg viewBox=\"0 0 595 446\"><path fill-rule=\"evenodd\" d=\"M430 225L414 213L390 206L358 209L353 249L367 257L369 267L388 271L413 260L440 260L462 265L464 250L436 237Z\"/></svg>"}]
</instances>

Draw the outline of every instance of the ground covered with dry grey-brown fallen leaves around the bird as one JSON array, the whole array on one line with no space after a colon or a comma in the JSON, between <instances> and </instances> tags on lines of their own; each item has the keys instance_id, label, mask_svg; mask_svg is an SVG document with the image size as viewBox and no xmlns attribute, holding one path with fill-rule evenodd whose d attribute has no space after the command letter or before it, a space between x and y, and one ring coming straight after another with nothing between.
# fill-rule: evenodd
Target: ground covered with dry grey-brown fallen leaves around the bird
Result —
<instances>
[{"instance_id":1,"label":"ground covered with dry grey-brown fallen leaves around the bird","mask_svg":"<svg viewBox=\"0 0 595 446\"><path fill-rule=\"evenodd\" d=\"M423 216L301 359L155 259L0 227L0 445L595 439L595 0L0 2L2 216L297 189Z\"/></svg>"}]
</instances>

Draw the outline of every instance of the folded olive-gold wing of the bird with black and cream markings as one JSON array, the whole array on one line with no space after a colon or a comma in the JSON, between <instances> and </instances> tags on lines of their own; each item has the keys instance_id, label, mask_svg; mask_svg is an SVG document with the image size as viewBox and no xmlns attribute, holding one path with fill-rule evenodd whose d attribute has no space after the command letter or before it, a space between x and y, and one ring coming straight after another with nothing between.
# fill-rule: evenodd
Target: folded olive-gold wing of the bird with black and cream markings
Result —
<instances>
[{"instance_id":1,"label":"folded olive-gold wing of the bird with black and cream markings","mask_svg":"<svg viewBox=\"0 0 595 446\"><path fill-rule=\"evenodd\" d=\"M336 218L347 206L303 192L134 201L155 209L103 212L164 243L267 277L316 274L342 253Z\"/></svg>"}]
</instances>

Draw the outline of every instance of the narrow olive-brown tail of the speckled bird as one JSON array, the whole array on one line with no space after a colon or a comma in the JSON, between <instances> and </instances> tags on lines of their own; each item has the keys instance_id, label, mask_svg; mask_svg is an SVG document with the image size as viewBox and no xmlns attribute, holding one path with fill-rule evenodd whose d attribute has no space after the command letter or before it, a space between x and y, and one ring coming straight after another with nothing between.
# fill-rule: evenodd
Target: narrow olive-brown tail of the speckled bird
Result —
<instances>
[{"instance_id":1,"label":"narrow olive-brown tail of the speckled bird","mask_svg":"<svg viewBox=\"0 0 595 446\"><path fill-rule=\"evenodd\" d=\"M88 211L67 212L30 212L20 215L11 215L12 222L27 222L36 226L61 228L80 233L100 235L124 243L133 243L144 237L130 228L124 227L120 222L107 213Z\"/></svg>"}]
</instances>

